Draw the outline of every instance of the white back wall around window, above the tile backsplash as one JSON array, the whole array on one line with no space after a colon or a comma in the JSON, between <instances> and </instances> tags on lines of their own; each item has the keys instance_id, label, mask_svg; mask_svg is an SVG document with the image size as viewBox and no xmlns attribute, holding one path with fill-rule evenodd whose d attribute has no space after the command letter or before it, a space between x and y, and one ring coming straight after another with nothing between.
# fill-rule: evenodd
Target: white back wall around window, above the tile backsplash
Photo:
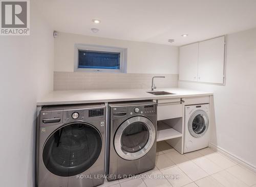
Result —
<instances>
[{"instance_id":1,"label":"white back wall around window, above the tile backsplash","mask_svg":"<svg viewBox=\"0 0 256 187\"><path fill-rule=\"evenodd\" d=\"M75 43L127 48L127 73L178 74L178 47L146 42L58 33L54 39L54 71L74 71Z\"/></svg>"}]
</instances>

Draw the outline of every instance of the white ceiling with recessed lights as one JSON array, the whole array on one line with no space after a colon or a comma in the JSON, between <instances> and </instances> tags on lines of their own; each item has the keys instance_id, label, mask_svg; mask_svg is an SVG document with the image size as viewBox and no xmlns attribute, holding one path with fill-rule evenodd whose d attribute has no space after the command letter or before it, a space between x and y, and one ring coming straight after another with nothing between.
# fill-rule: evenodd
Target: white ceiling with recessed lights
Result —
<instances>
[{"instance_id":1,"label":"white ceiling with recessed lights","mask_svg":"<svg viewBox=\"0 0 256 187\"><path fill-rule=\"evenodd\" d=\"M256 27L256 0L37 0L37 4L56 31L168 45ZM101 22L94 24L92 19Z\"/></svg>"}]
</instances>

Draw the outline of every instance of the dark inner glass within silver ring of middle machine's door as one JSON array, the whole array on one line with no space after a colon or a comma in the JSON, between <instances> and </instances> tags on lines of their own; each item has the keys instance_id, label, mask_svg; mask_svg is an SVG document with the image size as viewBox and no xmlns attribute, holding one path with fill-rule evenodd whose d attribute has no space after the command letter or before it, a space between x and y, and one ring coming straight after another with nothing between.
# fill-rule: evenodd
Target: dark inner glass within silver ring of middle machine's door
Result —
<instances>
[{"instance_id":1,"label":"dark inner glass within silver ring of middle machine's door","mask_svg":"<svg viewBox=\"0 0 256 187\"><path fill-rule=\"evenodd\" d=\"M145 147L149 137L150 132L147 126L141 122L135 122L123 130L121 146L126 152L138 152Z\"/></svg>"}]
</instances>

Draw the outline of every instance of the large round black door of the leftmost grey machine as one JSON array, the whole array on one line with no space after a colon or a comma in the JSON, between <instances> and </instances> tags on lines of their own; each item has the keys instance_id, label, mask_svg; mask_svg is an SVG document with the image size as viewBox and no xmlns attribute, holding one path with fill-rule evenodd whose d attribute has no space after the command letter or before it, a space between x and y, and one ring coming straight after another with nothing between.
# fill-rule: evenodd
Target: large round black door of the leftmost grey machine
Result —
<instances>
[{"instance_id":1,"label":"large round black door of the leftmost grey machine","mask_svg":"<svg viewBox=\"0 0 256 187\"><path fill-rule=\"evenodd\" d=\"M69 177L88 170L100 155L101 135L86 123L72 123L47 139L42 159L53 174Z\"/></svg>"}]
</instances>

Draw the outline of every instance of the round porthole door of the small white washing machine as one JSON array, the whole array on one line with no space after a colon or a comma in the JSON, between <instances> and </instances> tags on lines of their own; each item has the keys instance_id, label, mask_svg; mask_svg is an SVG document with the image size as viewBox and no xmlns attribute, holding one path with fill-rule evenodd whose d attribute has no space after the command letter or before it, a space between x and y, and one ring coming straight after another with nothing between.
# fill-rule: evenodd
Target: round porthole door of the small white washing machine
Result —
<instances>
[{"instance_id":1,"label":"round porthole door of the small white washing machine","mask_svg":"<svg viewBox=\"0 0 256 187\"><path fill-rule=\"evenodd\" d=\"M188 130L192 136L203 136L206 133L208 126L209 119L205 111L197 110L190 116Z\"/></svg>"}]
</instances>

